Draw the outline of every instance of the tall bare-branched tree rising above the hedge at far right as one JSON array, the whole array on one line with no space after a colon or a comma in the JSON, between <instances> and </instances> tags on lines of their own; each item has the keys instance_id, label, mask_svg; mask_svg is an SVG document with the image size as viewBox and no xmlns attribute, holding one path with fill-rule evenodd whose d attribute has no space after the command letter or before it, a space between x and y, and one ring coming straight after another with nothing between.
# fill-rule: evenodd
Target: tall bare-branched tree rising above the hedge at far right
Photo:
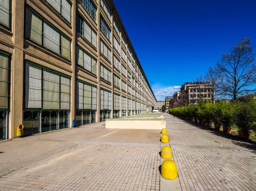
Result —
<instances>
[{"instance_id":1,"label":"tall bare-branched tree rising above the hedge at far right","mask_svg":"<svg viewBox=\"0 0 256 191\"><path fill-rule=\"evenodd\" d=\"M220 90L224 95L236 100L240 95L249 94L256 89L256 66L253 64L254 52L251 38L243 37L230 52L223 53L217 68L221 74Z\"/></svg>"}]
</instances>

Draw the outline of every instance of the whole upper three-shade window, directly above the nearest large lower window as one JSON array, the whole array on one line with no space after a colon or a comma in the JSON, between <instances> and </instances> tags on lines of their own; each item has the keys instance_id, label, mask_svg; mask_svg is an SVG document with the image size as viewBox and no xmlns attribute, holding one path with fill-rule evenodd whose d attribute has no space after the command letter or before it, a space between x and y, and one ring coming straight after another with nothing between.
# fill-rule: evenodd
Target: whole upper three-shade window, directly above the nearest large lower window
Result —
<instances>
[{"instance_id":1,"label":"whole upper three-shade window, directly above the nearest large lower window","mask_svg":"<svg viewBox=\"0 0 256 191\"><path fill-rule=\"evenodd\" d=\"M42 17L26 7L25 37L70 60L71 40ZM44 27L44 28L43 28ZM44 31L42 30L44 29Z\"/></svg>"}]
</instances>

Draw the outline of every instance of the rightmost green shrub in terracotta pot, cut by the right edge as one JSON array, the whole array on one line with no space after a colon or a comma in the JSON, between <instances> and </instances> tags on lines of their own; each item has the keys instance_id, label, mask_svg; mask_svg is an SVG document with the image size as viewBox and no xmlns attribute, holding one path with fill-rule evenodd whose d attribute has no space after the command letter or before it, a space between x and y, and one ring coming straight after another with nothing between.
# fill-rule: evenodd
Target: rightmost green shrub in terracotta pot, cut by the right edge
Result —
<instances>
[{"instance_id":1,"label":"rightmost green shrub in terracotta pot, cut by the right edge","mask_svg":"<svg viewBox=\"0 0 256 191\"><path fill-rule=\"evenodd\" d=\"M238 136L250 139L251 131L256 131L256 100L250 98L239 103L235 116Z\"/></svg>"}]
</instances>

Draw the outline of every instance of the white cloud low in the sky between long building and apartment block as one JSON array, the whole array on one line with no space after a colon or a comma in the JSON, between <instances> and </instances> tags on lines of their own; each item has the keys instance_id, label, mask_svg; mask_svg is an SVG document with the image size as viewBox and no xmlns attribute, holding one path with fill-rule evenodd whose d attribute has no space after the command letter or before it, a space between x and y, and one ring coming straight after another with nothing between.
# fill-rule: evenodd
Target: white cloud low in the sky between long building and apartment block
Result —
<instances>
[{"instance_id":1,"label":"white cloud low in the sky between long building and apartment block","mask_svg":"<svg viewBox=\"0 0 256 191\"><path fill-rule=\"evenodd\" d=\"M180 91L180 86L169 86L154 88L154 95L158 101L165 100L166 96L173 96L176 91Z\"/></svg>"}]
</instances>

